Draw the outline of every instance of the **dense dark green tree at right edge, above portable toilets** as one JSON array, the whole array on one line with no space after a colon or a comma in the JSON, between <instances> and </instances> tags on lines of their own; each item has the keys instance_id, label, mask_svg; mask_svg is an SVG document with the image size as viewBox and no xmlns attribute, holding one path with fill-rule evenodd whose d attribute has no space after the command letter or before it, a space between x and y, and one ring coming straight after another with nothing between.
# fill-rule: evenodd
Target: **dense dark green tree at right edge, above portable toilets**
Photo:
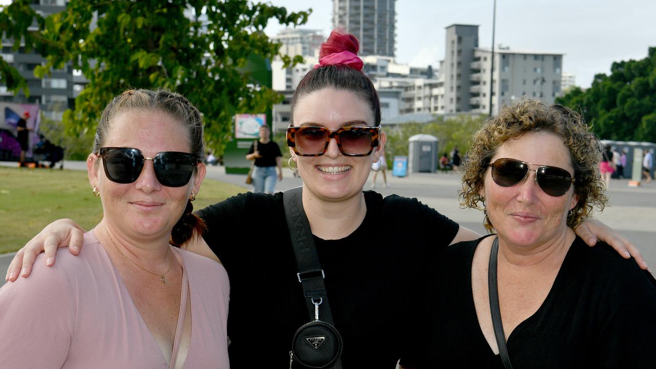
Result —
<instances>
[{"instance_id":1,"label":"dense dark green tree at right edge, above portable toilets","mask_svg":"<svg viewBox=\"0 0 656 369\"><path fill-rule=\"evenodd\" d=\"M646 58L614 62L592 87L571 89L557 104L580 110L602 139L656 142L656 47Z\"/></svg>"}]
</instances>

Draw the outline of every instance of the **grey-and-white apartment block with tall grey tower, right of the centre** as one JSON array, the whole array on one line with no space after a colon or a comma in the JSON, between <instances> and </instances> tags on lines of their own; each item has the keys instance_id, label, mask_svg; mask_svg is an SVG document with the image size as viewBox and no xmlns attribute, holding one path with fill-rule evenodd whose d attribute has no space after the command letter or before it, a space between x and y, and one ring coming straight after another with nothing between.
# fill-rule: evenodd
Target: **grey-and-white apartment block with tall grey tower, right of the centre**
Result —
<instances>
[{"instance_id":1,"label":"grey-and-white apartment block with tall grey tower, right of the centre","mask_svg":"<svg viewBox=\"0 0 656 369\"><path fill-rule=\"evenodd\" d=\"M495 114L500 104L512 98L535 97L553 103L561 92L563 54L499 47L492 68L491 49L478 47L478 26L466 24L448 26L445 45L440 64L441 114L489 113L490 96Z\"/></svg>"}]
</instances>

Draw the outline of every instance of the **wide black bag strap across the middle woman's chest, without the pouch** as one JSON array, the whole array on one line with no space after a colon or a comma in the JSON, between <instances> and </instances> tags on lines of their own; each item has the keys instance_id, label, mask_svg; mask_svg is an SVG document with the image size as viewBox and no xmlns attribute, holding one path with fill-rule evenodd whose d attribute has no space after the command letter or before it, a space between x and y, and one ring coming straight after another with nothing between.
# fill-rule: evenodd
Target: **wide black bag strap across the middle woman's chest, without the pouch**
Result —
<instances>
[{"instance_id":1,"label":"wide black bag strap across the middle woman's chest, without the pouch","mask_svg":"<svg viewBox=\"0 0 656 369\"><path fill-rule=\"evenodd\" d=\"M324 322L334 326L333 314L331 313L328 295L323 284L325 272L321 269L319 254L312 238L310 221L308 221L308 217L305 215L303 209L302 194L303 186L291 188L291 190L283 192L285 219L287 220L287 228L289 229L289 236L294 248L294 256L296 257L298 269L297 278L303 287L303 296L305 297L310 319L315 320L314 303L319 303L320 301L319 311L321 313L319 317ZM338 358L335 364L333 364L333 369L341 368L342 358Z\"/></svg>"}]
</instances>

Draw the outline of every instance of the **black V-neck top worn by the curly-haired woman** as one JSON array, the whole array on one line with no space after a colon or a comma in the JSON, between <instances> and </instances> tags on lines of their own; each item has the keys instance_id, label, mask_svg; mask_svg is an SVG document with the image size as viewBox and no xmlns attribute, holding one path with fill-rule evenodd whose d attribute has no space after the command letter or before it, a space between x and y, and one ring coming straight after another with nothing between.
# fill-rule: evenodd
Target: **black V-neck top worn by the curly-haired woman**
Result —
<instances>
[{"instance_id":1,"label":"black V-neck top worn by the curly-haired woman","mask_svg":"<svg viewBox=\"0 0 656 369\"><path fill-rule=\"evenodd\" d=\"M438 250L432 261L424 368L503 368L474 308L472 261L481 239ZM656 280L610 246L590 248L577 237L543 304L507 345L514 369L656 368Z\"/></svg>"}]
</instances>

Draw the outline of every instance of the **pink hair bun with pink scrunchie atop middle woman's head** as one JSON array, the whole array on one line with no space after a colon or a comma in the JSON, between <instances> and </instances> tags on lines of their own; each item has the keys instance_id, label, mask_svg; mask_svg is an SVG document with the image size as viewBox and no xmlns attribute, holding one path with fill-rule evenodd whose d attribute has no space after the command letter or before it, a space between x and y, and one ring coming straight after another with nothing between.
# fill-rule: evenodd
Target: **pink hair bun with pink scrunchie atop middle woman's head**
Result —
<instances>
[{"instance_id":1,"label":"pink hair bun with pink scrunchie atop middle woman's head","mask_svg":"<svg viewBox=\"0 0 656 369\"><path fill-rule=\"evenodd\" d=\"M356 70L362 70L362 59L358 57L359 49L360 44L356 36L333 30L328 39L321 44L319 64L316 64L314 68L343 64Z\"/></svg>"}]
</instances>

